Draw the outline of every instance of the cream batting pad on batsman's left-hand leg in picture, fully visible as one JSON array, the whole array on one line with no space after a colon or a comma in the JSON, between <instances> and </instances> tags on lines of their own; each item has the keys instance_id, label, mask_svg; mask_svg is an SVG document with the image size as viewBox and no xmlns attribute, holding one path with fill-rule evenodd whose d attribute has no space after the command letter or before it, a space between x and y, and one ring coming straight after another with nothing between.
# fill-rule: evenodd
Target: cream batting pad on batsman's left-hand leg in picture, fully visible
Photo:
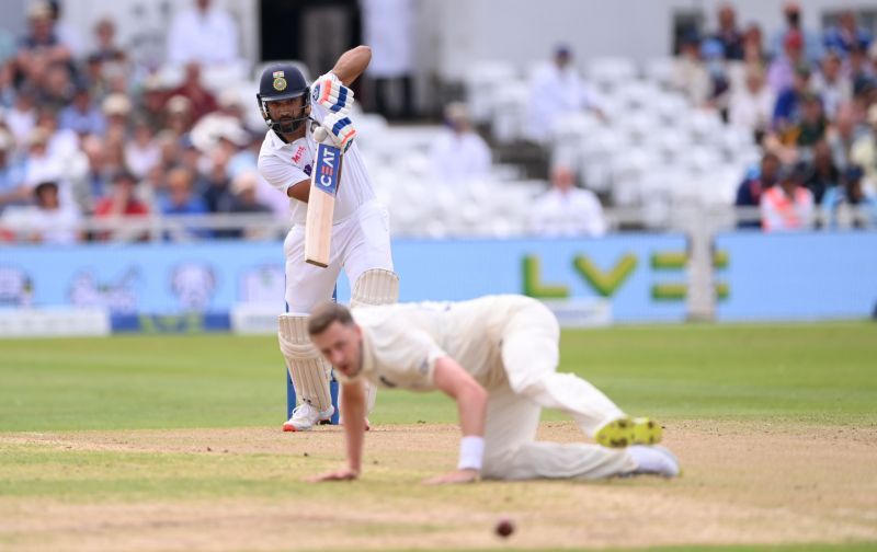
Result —
<instances>
[{"instance_id":1,"label":"cream batting pad on batsman's left-hand leg in picture, fully visible","mask_svg":"<svg viewBox=\"0 0 877 552\"><path fill-rule=\"evenodd\" d=\"M310 342L308 318L281 314L278 322L281 353L286 359L286 369L289 370L299 402L304 401L320 411L329 410L332 405L329 392L332 367Z\"/></svg>"}]
</instances>

